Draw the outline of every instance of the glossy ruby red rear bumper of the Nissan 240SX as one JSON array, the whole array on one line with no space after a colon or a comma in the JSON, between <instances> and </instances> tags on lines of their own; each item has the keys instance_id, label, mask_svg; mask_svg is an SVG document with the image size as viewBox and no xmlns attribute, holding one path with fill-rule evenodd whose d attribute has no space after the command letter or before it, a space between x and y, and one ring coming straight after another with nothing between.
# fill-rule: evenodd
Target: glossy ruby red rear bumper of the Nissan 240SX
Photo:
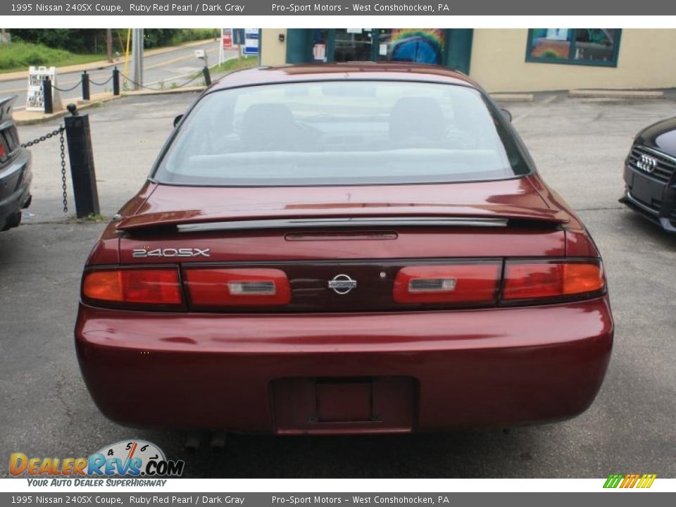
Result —
<instances>
[{"instance_id":1,"label":"glossy ruby red rear bumper of the Nissan 240SX","mask_svg":"<svg viewBox=\"0 0 676 507\"><path fill-rule=\"evenodd\" d=\"M613 320L607 296L314 315L158 315L80 304L75 342L97 406L125 425L435 431L581 413L601 387Z\"/></svg>"}]
</instances>

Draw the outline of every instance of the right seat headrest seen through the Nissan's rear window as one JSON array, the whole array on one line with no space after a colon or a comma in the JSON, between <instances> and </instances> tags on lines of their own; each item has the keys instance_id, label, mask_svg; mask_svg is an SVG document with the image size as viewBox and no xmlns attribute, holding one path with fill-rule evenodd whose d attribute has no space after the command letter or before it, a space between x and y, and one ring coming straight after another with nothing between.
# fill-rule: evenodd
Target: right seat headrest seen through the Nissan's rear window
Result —
<instances>
[{"instance_id":1,"label":"right seat headrest seen through the Nissan's rear window","mask_svg":"<svg viewBox=\"0 0 676 507\"><path fill-rule=\"evenodd\" d=\"M407 97L396 101L389 117L389 138L392 141L438 141L443 137L444 113L436 99Z\"/></svg>"}]
</instances>

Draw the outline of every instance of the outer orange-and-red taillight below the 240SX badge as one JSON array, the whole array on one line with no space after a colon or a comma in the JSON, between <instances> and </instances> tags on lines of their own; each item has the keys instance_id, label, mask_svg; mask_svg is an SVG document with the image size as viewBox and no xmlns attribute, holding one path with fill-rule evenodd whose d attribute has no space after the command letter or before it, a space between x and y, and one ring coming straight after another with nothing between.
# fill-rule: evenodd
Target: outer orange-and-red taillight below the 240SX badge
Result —
<instances>
[{"instance_id":1,"label":"outer orange-and-red taillight below the 240SX badge","mask_svg":"<svg viewBox=\"0 0 676 507\"><path fill-rule=\"evenodd\" d=\"M82 296L118 304L182 304L177 268L88 271L82 280Z\"/></svg>"}]
</instances>

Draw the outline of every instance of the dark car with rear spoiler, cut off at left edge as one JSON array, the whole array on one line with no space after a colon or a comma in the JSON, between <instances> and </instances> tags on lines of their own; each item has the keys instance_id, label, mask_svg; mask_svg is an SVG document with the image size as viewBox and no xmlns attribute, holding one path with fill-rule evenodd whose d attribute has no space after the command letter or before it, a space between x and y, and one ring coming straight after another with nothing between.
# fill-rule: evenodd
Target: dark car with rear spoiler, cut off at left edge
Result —
<instances>
[{"instance_id":1,"label":"dark car with rear spoiler, cut off at left edge","mask_svg":"<svg viewBox=\"0 0 676 507\"><path fill-rule=\"evenodd\" d=\"M15 99L0 99L0 230L19 225L31 200L30 151L21 147L12 119Z\"/></svg>"}]
</instances>

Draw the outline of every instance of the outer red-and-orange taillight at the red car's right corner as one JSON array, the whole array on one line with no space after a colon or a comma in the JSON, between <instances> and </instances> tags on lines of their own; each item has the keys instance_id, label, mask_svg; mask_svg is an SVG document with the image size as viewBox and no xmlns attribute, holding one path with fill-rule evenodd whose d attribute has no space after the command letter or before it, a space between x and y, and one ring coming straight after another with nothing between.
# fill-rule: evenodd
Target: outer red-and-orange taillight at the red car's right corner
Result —
<instances>
[{"instance_id":1,"label":"outer red-and-orange taillight at the red car's right corner","mask_svg":"<svg viewBox=\"0 0 676 507\"><path fill-rule=\"evenodd\" d=\"M600 261L507 261L502 299L539 299L593 294L606 287Z\"/></svg>"}]
</instances>

